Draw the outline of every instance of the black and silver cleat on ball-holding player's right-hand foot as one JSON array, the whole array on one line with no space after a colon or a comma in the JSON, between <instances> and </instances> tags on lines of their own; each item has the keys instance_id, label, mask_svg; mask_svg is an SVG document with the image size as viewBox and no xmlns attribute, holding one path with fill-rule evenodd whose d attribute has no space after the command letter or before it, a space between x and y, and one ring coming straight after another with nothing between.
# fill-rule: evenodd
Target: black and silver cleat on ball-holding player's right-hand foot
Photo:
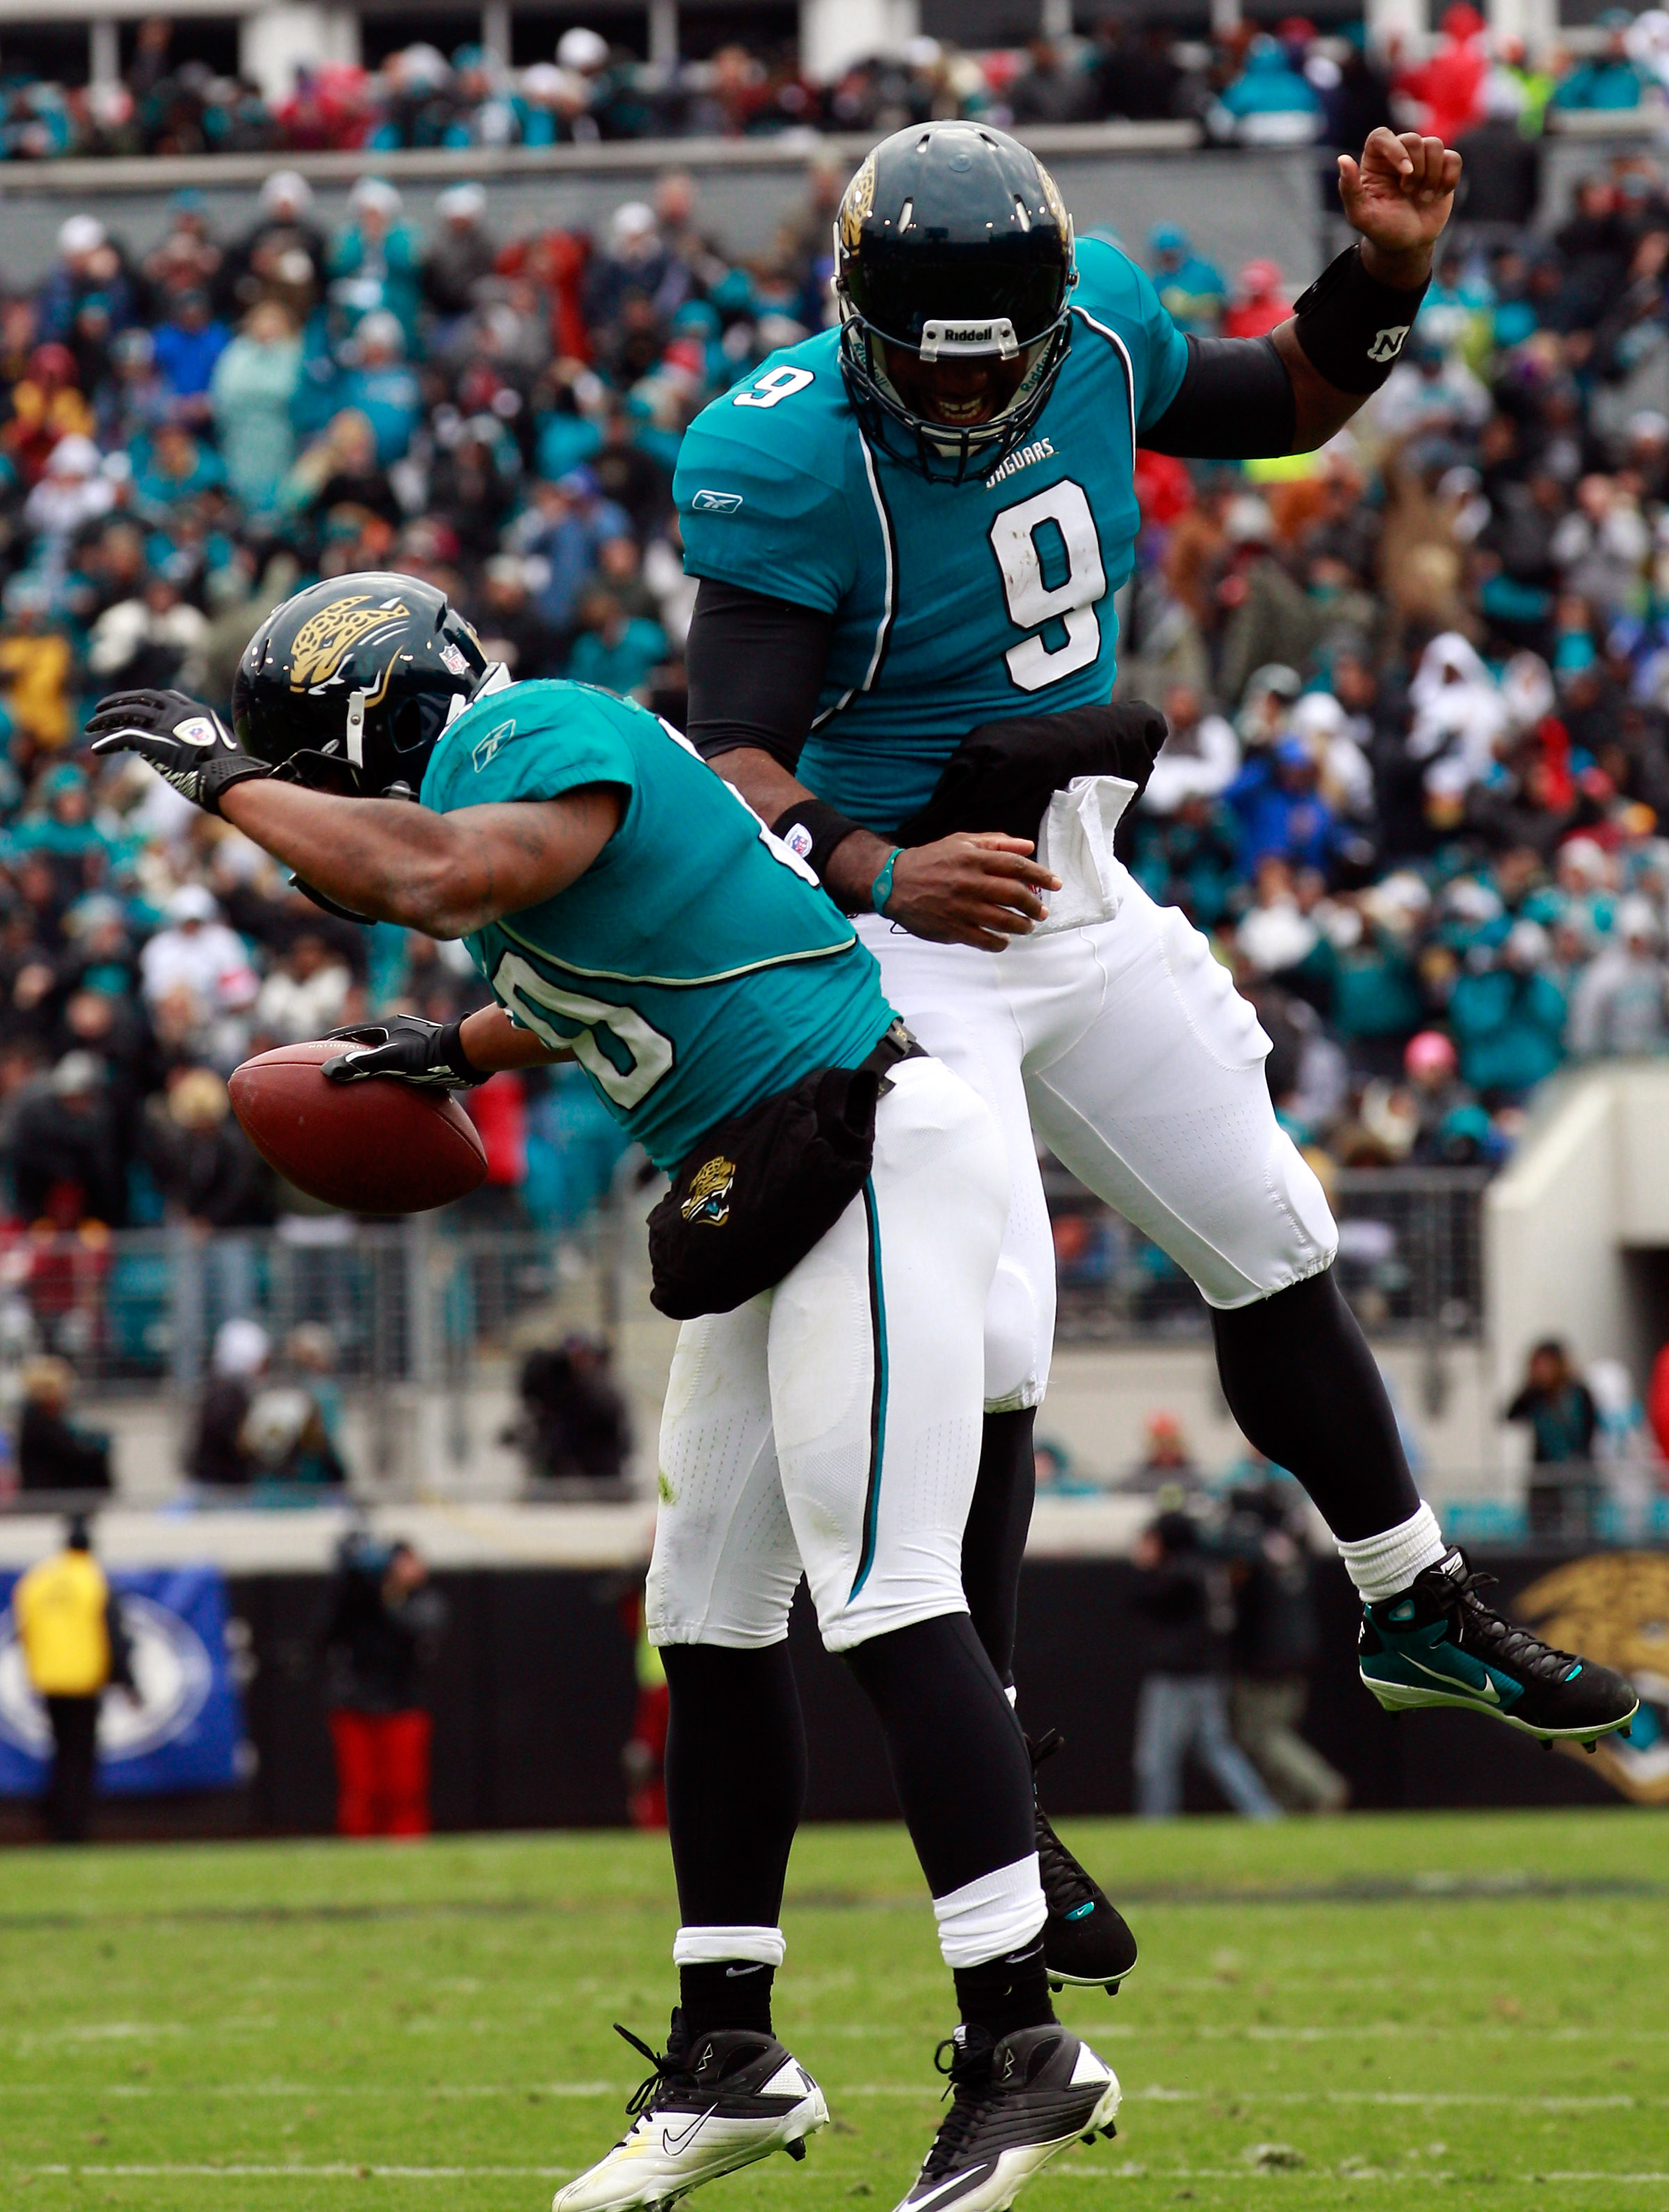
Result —
<instances>
[{"instance_id":1,"label":"black and silver cleat on ball-holding player's right-hand foot","mask_svg":"<svg viewBox=\"0 0 1669 2212\"><path fill-rule=\"evenodd\" d=\"M1119 2077L1059 2022L999 2042L962 2026L935 2064L951 2110L898 2212L1006 2212L1072 2141L1116 2132Z\"/></svg>"}]
</instances>

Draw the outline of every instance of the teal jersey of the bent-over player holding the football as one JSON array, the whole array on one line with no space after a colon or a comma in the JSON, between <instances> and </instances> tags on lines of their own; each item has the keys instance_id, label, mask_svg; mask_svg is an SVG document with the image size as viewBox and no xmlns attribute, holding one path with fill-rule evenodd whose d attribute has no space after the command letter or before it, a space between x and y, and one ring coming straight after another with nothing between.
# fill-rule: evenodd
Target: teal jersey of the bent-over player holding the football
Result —
<instances>
[{"instance_id":1,"label":"teal jersey of the bent-over player holding the football","mask_svg":"<svg viewBox=\"0 0 1669 2212\"><path fill-rule=\"evenodd\" d=\"M893 1009L811 872L663 721L588 684L511 684L444 732L420 799L438 814L630 792L566 891L469 942L511 1018L568 1046L659 1168L811 1068L853 1068Z\"/></svg>"}]
</instances>

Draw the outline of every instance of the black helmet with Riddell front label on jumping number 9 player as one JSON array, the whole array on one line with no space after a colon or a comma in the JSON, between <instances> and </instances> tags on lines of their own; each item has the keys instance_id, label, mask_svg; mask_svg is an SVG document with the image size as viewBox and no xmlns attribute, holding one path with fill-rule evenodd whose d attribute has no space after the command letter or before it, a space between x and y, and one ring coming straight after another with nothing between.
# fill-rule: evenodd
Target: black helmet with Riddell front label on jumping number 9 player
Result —
<instances>
[{"instance_id":1,"label":"black helmet with Riddell front label on jumping number 9 player","mask_svg":"<svg viewBox=\"0 0 1669 2212\"><path fill-rule=\"evenodd\" d=\"M836 215L840 372L864 431L924 476L986 476L1026 438L1072 341L1072 217L1019 139L913 124L869 155ZM904 405L875 343L922 361L1026 356L1008 407L957 429Z\"/></svg>"}]
</instances>

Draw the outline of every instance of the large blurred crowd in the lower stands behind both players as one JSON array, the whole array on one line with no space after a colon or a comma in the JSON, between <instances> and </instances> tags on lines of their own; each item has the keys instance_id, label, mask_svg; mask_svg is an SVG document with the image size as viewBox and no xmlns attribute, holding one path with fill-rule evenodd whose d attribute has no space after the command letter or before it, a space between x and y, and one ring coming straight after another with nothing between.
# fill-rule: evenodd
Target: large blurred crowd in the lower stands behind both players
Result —
<instances>
[{"instance_id":1,"label":"large blurred crowd in the lower stands behind both players","mask_svg":"<svg viewBox=\"0 0 1669 2212\"><path fill-rule=\"evenodd\" d=\"M281 173L239 237L179 195L144 259L73 215L0 301L13 1221L270 1221L228 1071L480 991L460 949L321 914L141 765L93 763L91 699L225 701L279 597L396 568L515 675L679 719L679 438L827 319L840 181L813 166L736 259L679 173L597 237L513 239L480 184L420 228L367 177L325 228ZM1127 243L1194 330L1262 332L1309 276L1227 279L1165 228ZM1669 1044L1665 272L1665 179L1618 159L1547 237L1461 232L1322 456L1143 456L1121 681L1174 734L1130 860L1214 933L1282 1115L1337 1164L1497 1161L1563 1060ZM606 1186L619 1139L577 1071L500 1077L475 1110L484 1219L564 1225Z\"/></svg>"}]
</instances>

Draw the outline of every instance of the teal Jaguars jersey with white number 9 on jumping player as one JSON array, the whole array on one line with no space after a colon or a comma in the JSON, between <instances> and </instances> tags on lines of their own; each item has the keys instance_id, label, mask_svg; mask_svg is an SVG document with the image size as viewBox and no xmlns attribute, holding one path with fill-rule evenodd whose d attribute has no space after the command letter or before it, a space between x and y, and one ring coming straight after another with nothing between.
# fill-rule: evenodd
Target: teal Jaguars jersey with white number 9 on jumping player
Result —
<instances>
[{"instance_id":1,"label":"teal Jaguars jersey with white number 9 on jumping player","mask_svg":"<svg viewBox=\"0 0 1669 2212\"><path fill-rule=\"evenodd\" d=\"M982 721L1112 697L1136 438L1185 367L1150 279L1083 239L1066 365L984 482L928 482L862 434L833 330L696 416L674 487L690 575L836 617L802 783L891 830Z\"/></svg>"}]
</instances>

